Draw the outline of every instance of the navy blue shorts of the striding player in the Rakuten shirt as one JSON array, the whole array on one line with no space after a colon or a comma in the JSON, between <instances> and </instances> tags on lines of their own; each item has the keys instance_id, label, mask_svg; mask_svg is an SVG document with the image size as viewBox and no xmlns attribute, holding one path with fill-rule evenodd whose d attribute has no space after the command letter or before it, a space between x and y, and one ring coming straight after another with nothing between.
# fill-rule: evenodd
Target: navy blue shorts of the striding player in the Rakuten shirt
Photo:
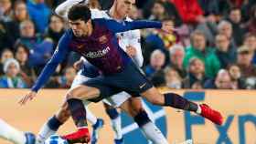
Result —
<instances>
[{"instance_id":1,"label":"navy blue shorts of the striding player in the Rakuten shirt","mask_svg":"<svg viewBox=\"0 0 256 144\"><path fill-rule=\"evenodd\" d=\"M109 98L122 91L129 93L133 97L138 97L141 93L153 87L152 83L133 62L127 64L120 73L94 77L84 82L83 85L100 89L100 97L89 99L92 102L98 102L103 98Z\"/></svg>"}]
</instances>

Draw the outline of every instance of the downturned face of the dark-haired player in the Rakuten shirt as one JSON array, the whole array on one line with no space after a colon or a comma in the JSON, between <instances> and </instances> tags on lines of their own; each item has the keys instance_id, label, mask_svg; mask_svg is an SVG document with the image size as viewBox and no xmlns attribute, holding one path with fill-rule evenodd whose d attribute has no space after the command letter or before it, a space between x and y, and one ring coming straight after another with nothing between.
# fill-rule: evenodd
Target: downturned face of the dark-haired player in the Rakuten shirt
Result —
<instances>
[{"instance_id":1,"label":"downturned face of the dark-haired player in the Rakuten shirt","mask_svg":"<svg viewBox=\"0 0 256 144\"><path fill-rule=\"evenodd\" d=\"M69 20L69 26L71 27L73 34L77 37L88 36L90 24L90 20L87 23L80 19L75 21Z\"/></svg>"}]
</instances>

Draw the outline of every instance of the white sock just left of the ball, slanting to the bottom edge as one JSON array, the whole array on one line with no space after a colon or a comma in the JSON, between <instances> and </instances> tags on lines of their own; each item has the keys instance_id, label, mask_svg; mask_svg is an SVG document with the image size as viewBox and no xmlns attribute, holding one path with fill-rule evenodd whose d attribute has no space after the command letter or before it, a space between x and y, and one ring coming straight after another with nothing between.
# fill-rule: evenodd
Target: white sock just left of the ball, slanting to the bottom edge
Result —
<instances>
[{"instance_id":1,"label":"white sock just left of the ball, slanting to the bottom edge","mask_svg":"<svg viewBox=\"0 0 256 144\"><path fill-rule=\"evenodd\" d=\"M48 127L48 122L41 127L38 135L36 144L44 144L45 140L48 139L51 135L54 135L56 131Z\"/></svg>"}]
</instances>

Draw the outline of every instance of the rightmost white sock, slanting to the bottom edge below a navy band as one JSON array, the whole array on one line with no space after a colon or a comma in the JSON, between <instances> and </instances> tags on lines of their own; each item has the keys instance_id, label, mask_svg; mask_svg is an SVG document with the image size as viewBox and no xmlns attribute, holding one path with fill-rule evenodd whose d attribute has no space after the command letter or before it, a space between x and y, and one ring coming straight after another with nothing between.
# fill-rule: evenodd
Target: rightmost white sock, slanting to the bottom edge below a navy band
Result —
<instances>
[{"instance_id":1,"label":"rightmost white sock, slanting to the bottom edge below a navy band","mask_svg":"<svg viewBox=\"0 0 256 144\"><path fill-rule=\"evenodd\" d=\"M154 144L168 144L163 133L158 129L153 122L146 123L142 128L145 137L151 140Z\"/></svg>"}]
</instances>

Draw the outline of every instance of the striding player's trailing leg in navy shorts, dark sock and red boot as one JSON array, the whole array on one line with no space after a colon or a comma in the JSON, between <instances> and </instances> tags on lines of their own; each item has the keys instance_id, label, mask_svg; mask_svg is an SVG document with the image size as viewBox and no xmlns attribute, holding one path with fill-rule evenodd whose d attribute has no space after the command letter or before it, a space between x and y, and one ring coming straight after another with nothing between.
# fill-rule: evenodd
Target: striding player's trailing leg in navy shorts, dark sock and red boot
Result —
<instances>
[{"instance_id":1,"label":"striding player's trailing leg in navy shorts, dark sock and red boot","mask_svg":"<svg viewBox=\"0 0 256 144\"><path fill-rule=\"evenodd\" d=\"M132 96L134 94L141 94L141 96L155 105L193 111L219 125L223 122L220 113L209 108L207 105L197 105L176 93L160 94L160 92L133 63L127 65L120 76L123 76L122 83L116 81L114 85L125 89L132 94Z\"/></svg>"}]
</instances>

